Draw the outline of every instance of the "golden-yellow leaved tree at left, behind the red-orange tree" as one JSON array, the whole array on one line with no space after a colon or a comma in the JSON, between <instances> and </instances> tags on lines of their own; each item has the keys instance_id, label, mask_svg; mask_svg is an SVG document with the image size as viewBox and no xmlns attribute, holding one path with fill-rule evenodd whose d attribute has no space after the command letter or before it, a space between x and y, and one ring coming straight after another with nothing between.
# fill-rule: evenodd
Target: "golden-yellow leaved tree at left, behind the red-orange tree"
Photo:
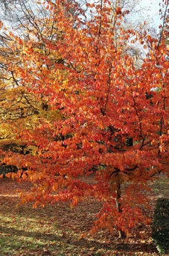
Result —
<instances>
[{"instance_id":1,"label":"golden-yellow leaved tree at left, behind the red-orange tree","mask_svg":"<svg viewBox=\"0 0 169 256\"><path fill-rule=\"evenodd\" d=\"M19 8L19 3L17 4ZM35 7L35 6L34 6ZM19 134L23 127L27 129L34 129L42 118L52 120L54 118L62 118L60 111L56 110L51 113L48 105L45 103L44 97L39 95L39 100L36 100L36 96L30 91L29 85L24 82L23 79L19 79L16 75L16 66L22 70L22 61L19 59L19 55L24 55L24 49L22 49L22 43L28 43L28 38L34 38L33 48L36 53L42 55L49 55L50 53L43 47L41 37L46 37L51 40L57 36L56 28L48 25L48 16L50 12L39 4L39 9L34 13L29 5L26 5L24 1L20 2L21 15L20 19L13 18L16 31L22 34L22 38L14 37L13 33L8 33L7 28L2 27L1 30L1 50L0 50L0 149L6 152L11 150L18 153L31 153L36 152L36 147L29 145L25 149L26 141L16 139L15 135ZM39 16L39 22L34 24L35 16ZM29 25L28 25L29 24ZM2 25L2 23L1 23ZM19 26L19 25L22 25ZM28 28L26 27L28 25ZM43 26L43 30L40 28ZM24 38L24 40L23 40ZM22 41L23 40L23 41ZM16 43L16 41L19 43ZM15 44L15 47L13 45ZM24 47L23 47L24 48ZM54 59L50 55L51 64L60 59ZM40 72L41 67L38 67ZM31 69L28 70L31 72ZM26 88L27 87L27 88ZM1 154L1 161L3 161L4 154ZM4 165L3 165L4 166ZM2 166L2 167L3 167ZM5 166L6 167L6 166ZM7 168L10 170L10 168ZM3 170L2 170L3 171Z\"/></svg>"}]
</instances>

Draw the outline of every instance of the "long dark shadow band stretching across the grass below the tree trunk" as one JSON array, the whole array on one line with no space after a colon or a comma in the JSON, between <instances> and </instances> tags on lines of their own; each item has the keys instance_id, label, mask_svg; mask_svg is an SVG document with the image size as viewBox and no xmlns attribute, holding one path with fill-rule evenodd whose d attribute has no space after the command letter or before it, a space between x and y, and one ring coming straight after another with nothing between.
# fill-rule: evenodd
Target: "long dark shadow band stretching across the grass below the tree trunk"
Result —
<instances>
[{"instance_id":1,"label":"long dark shadow band stretching across the grass below the tree trunk","mask_svg":"<svg viewBox=\"0 0 169 256\"><path fill-rule=\"evenodd\" d=\"M98 249L110 250L113 253L115 252L156 252L156 248L152 244L148 243L136 243L135 246L132 246L130 243L121 243L120 241L115 241L115 243L106 244L101 243L96 240L88 240L88 239L80 239L72 238L71 234L66 233L66 237L60 237L60 235L54 234L45 234L39 233L35 231L20 231L16 228L6 228L0 225L0 233L4 234L4 237L1 237L1 242L4 242L4 246L8 246L8 242L10 240L10 247L15 249L21 246L32 247L32 249L38 246L39 248L43 245L38 244L38 240L43 240L43 243L48 244L48 242L55 242L55 246L58 248L58 242L61 242L59 247L64 247L65 249L68 246L71 246L72 249L86 249L89 250L91 248L94 251ZM10 237L6 237L6 235L10 234ZM19 237L17 240L16 237ZM28 240L25 240L24 243L22 241L22 237L27 237ZM33 240L29 240L29 239ZM28 243L32 243L32 245L28 245ZM6 245L5 245L6 244ZM44 244L44 246L45 246Z\"/></svg>"}]
</instances>

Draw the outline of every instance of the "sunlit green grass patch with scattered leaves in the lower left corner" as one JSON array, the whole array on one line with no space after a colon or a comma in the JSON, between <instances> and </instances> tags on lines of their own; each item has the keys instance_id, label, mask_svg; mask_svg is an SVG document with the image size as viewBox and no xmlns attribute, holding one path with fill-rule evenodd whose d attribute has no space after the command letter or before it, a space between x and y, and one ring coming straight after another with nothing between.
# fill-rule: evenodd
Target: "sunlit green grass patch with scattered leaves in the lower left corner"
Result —
<instances>
[{"instance_id":1,"label":"sunlit green grass patch with scattered leaves in the lower left corner","mask_svg":"<svg viewBox=\"0 0 169 256\"><path fill-rule=\"evenodd\" d=\"M22 207L24 208L24 207ZM32 211L32 210L31 210ZM33 213L33 217L27 213L7 213L0 216L0 255L79 255L95 252L95 255L103 255L105 249L92 246L92 240L88 245L86 240L78 240L79 234L69 228L63 231L60 223L54 218L46 221L42 214L46 209L40 209L41 214ZM29 213L28 213L29 215ZM39 219L40 218L40 219ZM49 218L48 218L49 219ZM95 242L93 243L95 245ZM98 251L98 252L97 252Z\"/></svg>"}]
</instances>

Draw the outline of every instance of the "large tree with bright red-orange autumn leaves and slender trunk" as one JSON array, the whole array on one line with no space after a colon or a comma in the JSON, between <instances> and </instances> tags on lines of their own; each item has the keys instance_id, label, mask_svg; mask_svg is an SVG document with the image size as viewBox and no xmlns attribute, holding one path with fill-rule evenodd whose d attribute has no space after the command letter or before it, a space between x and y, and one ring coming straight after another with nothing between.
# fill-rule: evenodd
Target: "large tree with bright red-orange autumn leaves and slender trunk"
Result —
<instances>
[{"instance_id":1,"label":"large tree with bright red-orange autumn leaves and slender trunk","mask_svg":"<svg viewBox=\"0 0 169 256\"><path fill-rule=\"evenodd\" d=\"M167 5L159 40L127 29L121 1L107 0L86 4L86 11L74 2L46 1L46 25L34 18L39 37L30 24L29 40L10 34L19 61L8 70L63 117L44 115L31 129L18 124L16 138L36 147L34 155L8 152L4 159L27 168L22 177L22 171L8 174L33 184L21 193L22 203L71 201L75 207L93 197L103 202L93 234L116 228L124 237L139 222L150 222L141 210L149 207L144 191L168 167ZM76 8L78 15L69 11ZM132 44L145 51L140 69L127 50ZM92 172L94 182L81 179Z\"/></svg>"}]
</instances>

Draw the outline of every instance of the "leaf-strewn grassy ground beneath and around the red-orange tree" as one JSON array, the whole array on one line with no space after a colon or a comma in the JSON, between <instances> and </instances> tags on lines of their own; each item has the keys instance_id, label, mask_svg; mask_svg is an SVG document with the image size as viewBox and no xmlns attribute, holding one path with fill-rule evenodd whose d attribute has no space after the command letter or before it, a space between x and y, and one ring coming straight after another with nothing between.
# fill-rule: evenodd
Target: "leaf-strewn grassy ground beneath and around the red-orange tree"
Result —
<instances>
[{"instance_id":1,"label":"leaf-strewn grassy ground beneath and around the red-orange tree","mask_svg":"<svg viewBox=\"0 0 169 256\"><path fill-rule=\"evenodd\" d=\"M169 182L161 176L154 184L149 197L152 210L147 211L151 218L156 200L168 197ZM86 198L72 210L70 203L46 205L33 209L31 204L16 207L16 189L27 190L30 183L16 183L4 178L0 180L0 255L144 255L157 256L150 238L151 225L140 225L127 240L115 240L118 234L99 231L93 237L81 238L95 221L101 203Z\"/></svg>"}]
</instances>

